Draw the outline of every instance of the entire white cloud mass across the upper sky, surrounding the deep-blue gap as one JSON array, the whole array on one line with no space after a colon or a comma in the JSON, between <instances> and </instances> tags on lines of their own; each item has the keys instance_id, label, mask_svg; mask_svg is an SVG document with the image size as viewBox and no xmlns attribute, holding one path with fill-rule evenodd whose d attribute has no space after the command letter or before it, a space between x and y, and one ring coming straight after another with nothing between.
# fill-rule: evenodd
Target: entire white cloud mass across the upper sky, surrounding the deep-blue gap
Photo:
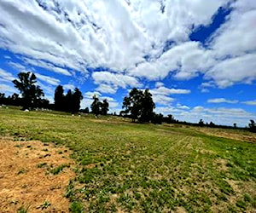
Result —
<instances>
[{"instance_id":1,"label":"entire white cloud mass across the upper sky, surrounding the deep-blue gap","mask_svg":"<svg viewBox=\"0 0 256 213\"><path fill-rule=\"evenodd\" d=\"M222 88L251 83L256 70L251 53L256 49L256 32L251 30L256 18L253 0L232 3L233 11L212 36L210 49L189 42L191 30L209 25L212 15L228 2L65 0L41 1L44 7L40 7L34 0L22 4L3 0L0 47L26 55L27 64L67 76L71 76L69 69L87 73L87 66L122 72L125 83L107 79L98 88L112 94L127 83L140 84L135 78L159 80L170 73L180 80L202 73ZM163 53L166 41L174 43ZM93 73L93 78L99 78L97 75Z\"/></svg>"}]
</instances>

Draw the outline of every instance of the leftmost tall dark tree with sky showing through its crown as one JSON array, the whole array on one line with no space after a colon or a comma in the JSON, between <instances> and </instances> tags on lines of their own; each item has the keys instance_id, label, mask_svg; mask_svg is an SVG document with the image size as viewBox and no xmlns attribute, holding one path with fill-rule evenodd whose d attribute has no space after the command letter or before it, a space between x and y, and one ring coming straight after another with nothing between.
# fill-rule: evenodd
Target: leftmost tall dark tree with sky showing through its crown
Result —
<instances>
[{"instance_id":1,"label":"leftmost tall dark tree with sky showing through its crown","mask_svg":"<svg viewBox=\"0 0 256 213\"><path fill-rule=\"evenodd\" d=\"M23 98L23 109L30 107L37 107L38 100L44 96L44 92L37 83L37 77L31 72L20 72L18 74L18 80L15 79L13 83L15 88L20 90Z\"/></svg>"}]
</instances>

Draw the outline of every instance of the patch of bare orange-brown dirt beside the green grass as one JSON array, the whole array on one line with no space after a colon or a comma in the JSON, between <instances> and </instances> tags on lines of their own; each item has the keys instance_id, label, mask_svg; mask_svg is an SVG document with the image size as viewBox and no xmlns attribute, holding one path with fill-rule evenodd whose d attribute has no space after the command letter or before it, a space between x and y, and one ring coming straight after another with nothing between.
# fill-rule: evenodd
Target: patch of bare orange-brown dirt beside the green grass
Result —
<instances>
[{"instance_id":1,"label":"patch of bare orange-brown dirt beside the green grass","mask_svg":"<svg viewBox=\"0 0 256 213\"><path fill-rule=\"evenodd\" d=\"M0 137L0 211L68 212L64 195L74 177L69 155L65 147ZM63 164L66 167L54 175Z\"/></svg>"}]
</instances>

